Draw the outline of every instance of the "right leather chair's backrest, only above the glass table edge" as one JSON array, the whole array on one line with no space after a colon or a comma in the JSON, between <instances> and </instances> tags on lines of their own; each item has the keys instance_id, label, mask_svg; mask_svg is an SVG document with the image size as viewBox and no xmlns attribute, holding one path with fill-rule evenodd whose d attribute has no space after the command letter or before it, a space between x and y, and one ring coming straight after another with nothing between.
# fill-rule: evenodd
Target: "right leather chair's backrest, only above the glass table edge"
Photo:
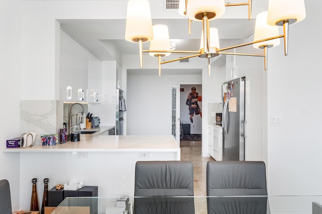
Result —
<instances>
[{"instance_id":1,"label":"right leather chair's backrest, only above the glass table edge","mask_svg":"<svg viewBox=\"0 0 322 214\"><path fill-rule=\"evenodd\" d=\"M267 195L263 161L209 161L207 195Z\"/></svg>"}]
</instances>

